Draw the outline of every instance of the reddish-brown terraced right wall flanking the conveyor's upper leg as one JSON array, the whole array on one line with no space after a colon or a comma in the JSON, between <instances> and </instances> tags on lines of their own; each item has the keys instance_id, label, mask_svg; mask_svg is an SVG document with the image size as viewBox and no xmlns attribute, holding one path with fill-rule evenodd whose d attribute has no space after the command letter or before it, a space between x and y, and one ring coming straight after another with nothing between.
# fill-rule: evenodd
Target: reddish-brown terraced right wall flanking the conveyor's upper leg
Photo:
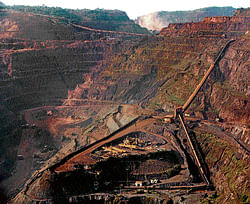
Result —
<instances>
[{"instance_id":1,"label":"reddish-brown terraced right wall flanking the conveyor's upper leg","mask_svg":"<svg viewBox=\"0 0 250 204\"><path fill-rule=\"evenodd\" d=\"M162 30L162 38L144 39L130 47L121 45L120 51L105 62L103 71L89 76L97 77L97 83L86 80L70 98L80 99L84 95L89 99L173 110L191 94L229 40L226 36L233 36L238 40L225 51L191 110L196 108L196 113L200 111L204 118L220 117L246 124L249 120L246 74L249 34L245 34L248 21L249 17L217 17L200 23L173 24ZM151 91L144 87L151 87Z\"/></svg>"}]
</instances>

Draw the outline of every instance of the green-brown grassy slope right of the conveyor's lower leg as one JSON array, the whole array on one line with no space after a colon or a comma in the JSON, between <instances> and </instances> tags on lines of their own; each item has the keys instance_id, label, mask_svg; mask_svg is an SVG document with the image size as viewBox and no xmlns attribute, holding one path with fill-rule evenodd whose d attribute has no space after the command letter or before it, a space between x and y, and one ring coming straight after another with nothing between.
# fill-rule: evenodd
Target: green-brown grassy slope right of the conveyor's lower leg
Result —
<instances>
[{"instance_id":1,"label":"green-brown grassy slope right of the conveyor's lower leg","mask_svg":"<svg viewBox=\"0 0 250 204\"><path fill-rule=\"evenodd\" d=\"M207 131L197 128L195 133L206 155L206 162L214 171L212 181L217 187L218 196L210 199L216 203L226 198L228 202L249 203L248 158L242 157L236 146Z\"/></svg>"}]
</instances>

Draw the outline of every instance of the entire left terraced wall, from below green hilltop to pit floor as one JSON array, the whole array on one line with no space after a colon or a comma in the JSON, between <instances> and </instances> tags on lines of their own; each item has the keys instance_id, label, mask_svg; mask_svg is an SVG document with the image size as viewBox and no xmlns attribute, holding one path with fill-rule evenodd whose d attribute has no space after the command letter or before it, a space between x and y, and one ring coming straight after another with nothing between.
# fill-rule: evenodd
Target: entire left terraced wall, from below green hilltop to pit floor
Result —
<instances>
[{"instance_id":1,"label":"entire left terraced wall, from below green hilltop to pit floor","mask_svg":"<svg viewBox=\"0 0 250 204\"><path fill-rule=\"evenodd\" d=\"M12 111L60 104L83 83L82 74L105 59L115 37L123 38L55 23L48 16L1 12L1 101Z\"/></svg>"}]
</instances>

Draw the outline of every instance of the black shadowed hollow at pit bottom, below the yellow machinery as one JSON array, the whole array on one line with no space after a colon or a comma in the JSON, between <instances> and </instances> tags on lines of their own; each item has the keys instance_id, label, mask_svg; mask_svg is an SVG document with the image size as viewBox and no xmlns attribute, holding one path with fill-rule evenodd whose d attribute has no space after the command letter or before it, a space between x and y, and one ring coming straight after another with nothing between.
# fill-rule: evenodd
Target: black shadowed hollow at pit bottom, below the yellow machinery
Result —
<instances>
[{"instance_id":1,"label":"black shadowed hollow at pit bottom, below the yellow machinery","mask_svg":"<svg viewBox=\"0 0 250 204\"><path fill-rule=\"evenodd\" d=\"M143 183L141 187L159 184L181 171L178 157L177 152L163 151L121 158L109 157L92 165L75 165L74 171L52 174L53 179L50 180L50 189L47 191L53 192L53 196L57 198L115 192L121 185L136 189L138 181ZM148 165L151 168L147 168Z\"/></svg>"}]
</instances>

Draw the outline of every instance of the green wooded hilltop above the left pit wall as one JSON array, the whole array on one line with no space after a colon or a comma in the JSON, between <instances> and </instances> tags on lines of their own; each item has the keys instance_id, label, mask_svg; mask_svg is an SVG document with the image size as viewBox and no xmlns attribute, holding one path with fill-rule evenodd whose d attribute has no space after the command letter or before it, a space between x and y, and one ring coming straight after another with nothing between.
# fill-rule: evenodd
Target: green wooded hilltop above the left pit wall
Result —
<instances>
[{"instance_id":1,"label":"green wooded hilltop above the left pit wall","mask_svg":"<svg viewBox=\"0 0 250 204\"><path fill-rule=\"evenodd\" d=\"M119 10L73 10L47 6L8 6L8 9L47 15L65 24L74 23L101 30L149 34L147 29L135 24L125 12Z\"/></svg>"}]
</instances>

